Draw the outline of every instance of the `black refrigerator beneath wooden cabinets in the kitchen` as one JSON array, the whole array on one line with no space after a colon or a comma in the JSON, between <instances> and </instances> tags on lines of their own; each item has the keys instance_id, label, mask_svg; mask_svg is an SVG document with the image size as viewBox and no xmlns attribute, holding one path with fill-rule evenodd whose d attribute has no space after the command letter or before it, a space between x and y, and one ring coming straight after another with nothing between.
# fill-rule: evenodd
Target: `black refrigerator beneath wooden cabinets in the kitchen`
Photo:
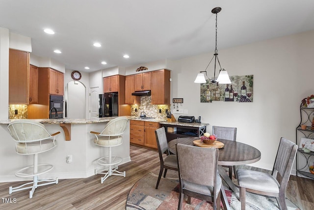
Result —
<instances>
[{"instance_id":1,"label":"black refrigerator beneath wooden cabinets in the kitchen","mask_svg":"<svg viewBox=\"0 0 314 210\"><path fill-rule=\"evenodd\" d=\"M99 94L99 118L118 116L118 93Z\"/></svg>"}]
</instances>

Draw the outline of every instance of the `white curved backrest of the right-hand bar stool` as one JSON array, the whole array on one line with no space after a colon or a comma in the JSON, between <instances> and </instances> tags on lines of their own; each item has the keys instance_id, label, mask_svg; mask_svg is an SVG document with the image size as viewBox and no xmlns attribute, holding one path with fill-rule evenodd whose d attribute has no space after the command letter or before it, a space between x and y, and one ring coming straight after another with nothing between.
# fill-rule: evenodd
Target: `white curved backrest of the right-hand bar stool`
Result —
<instances>
[{"instance_id":1,"label":"white curved backrest of the right-hand bar stool","mask_svg":"<svg viewBox=\"0 0 314 210\"><path fill-rule=\"evenodd\" d=\"M128 119L126 117L118 117L110 120L101 135L106 136L121 136L127 128Z\"/></svg>"}]
</instances>

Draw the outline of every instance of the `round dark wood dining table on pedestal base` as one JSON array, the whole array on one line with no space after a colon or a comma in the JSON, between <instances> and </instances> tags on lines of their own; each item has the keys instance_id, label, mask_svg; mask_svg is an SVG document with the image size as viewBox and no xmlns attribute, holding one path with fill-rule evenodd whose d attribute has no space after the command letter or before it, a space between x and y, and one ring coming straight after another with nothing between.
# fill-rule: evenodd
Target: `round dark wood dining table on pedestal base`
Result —
<instances>
[{"instance_id":1,"label":"round dark wood dining table on pedestal base","mask_svg":"<svg viewBox=\"0 0 314 210\"><path fill-rule=\"evenodd\" d=\"M173 154L176 154L176 144L195 146L195 143L193 143L193 141L196 140L200 140L200 137L184 137L173 139L170 142L168 142L169 151L172 152ZM238 187L229 178L228 174L226 173L222 166L236 166L255 163L261 159L261 152L255 147L252 147L241 142L230 141L226 139L217 139L217 141L223 143L223 147L219 148L218 156L219 175L234 192L238 192ZM200 146L200 144L196 145ZM204 145L204 148L208 148L208 146ZM222 191L224 200L227 201L226 194L224 190Z\"/></svg>"}]
</instances>

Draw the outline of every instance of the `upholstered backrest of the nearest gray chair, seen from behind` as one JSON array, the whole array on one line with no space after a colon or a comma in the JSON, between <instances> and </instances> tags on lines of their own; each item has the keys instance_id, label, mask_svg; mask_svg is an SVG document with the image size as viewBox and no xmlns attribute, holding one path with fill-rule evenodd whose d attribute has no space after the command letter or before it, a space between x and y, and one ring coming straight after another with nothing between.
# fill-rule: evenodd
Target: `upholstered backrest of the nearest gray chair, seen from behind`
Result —
<instances>
[{"instance_id":1,"label":"upholstered backrest of the nearest gray chair, seen from behind","mask_svg":"<svg viewBox=\"0 0 314 210\"><path fill-rule=\"evenodd\" d=\"M176 150L181 180L214 186L218 170L218 149L177 144Z\"/></svg>"}]
</instances>

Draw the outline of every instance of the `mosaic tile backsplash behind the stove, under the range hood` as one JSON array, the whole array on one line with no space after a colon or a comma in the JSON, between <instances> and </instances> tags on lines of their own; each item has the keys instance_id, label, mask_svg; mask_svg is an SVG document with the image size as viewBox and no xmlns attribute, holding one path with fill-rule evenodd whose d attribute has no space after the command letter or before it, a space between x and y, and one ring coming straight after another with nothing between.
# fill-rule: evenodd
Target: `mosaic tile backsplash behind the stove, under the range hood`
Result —
<instances>
[{"instance_id":1,"label":"mosaic tile backsplash behind the stove, under the range hood","mask_svg":"<svg viewBox=\"0 0 314 210\"><path fill-rule=\"evenodd\" d=\"M170 111L170 105L166 104L151 104L151 96L140 96L141 103L131 105L131 116L139 117L141 112L145 112L146 117L167 119L166 109ZM136 112L135 112L136 109ZM159 113L159 110L161 113Z\"/></svg>"}]
</instances>

